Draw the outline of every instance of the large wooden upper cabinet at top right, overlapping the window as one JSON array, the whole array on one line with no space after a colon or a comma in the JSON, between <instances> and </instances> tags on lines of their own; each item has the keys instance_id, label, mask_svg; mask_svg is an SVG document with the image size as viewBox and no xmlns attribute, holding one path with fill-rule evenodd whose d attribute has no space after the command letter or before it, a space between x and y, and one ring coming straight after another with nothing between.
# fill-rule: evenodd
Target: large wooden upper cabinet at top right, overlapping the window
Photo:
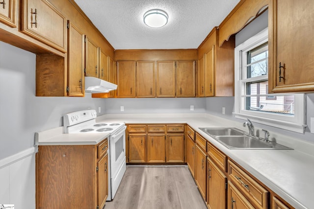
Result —
<instances>
[{"instance_id":1,"label":"large wooden upper cabinet at top right, overlapping the window","mask_svg":"<svg viewBox=\"0 0 314 209\"><path fill-rule=\"evenodd\" d=\"M313 8L313 0L269 1L269 93L314 92Z\"/></svg>"}]
</instances>

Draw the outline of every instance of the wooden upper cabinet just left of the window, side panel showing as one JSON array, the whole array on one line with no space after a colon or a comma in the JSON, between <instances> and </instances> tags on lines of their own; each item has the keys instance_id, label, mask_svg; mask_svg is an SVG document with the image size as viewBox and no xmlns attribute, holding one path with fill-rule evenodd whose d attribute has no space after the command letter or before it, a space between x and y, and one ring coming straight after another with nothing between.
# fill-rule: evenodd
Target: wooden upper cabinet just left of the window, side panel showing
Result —
<instances>
[{"instance_id":1,"label":"wooden upper cabinet just left of the window, side panel showing","mask_svg":"<svg viewBox=\"0 0 314 209\"><path fill-rule=\"evenodd\" d=\"M235 39L218 45L219 29L214 27L198 47L198 96L233 96Z\"/></svg>"}]
</instances>

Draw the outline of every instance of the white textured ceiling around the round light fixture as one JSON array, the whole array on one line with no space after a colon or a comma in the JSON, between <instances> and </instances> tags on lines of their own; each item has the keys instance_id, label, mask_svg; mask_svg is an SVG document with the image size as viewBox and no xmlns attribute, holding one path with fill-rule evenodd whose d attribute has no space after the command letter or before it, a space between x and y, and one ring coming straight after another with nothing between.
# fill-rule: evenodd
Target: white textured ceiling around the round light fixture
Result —
<instances>
[{"instance_id":1,"label":"white textured ceiling around the round light fixture","mask_svg":"<svg viewBox=\"0 0 314 209\"><path fill-rule=\"evenodd\" d=\"M197 48L239 0L75 0L115 49ZM168 13L161 28L144 24L150 9Z\"/></svg>"}]
</instances>

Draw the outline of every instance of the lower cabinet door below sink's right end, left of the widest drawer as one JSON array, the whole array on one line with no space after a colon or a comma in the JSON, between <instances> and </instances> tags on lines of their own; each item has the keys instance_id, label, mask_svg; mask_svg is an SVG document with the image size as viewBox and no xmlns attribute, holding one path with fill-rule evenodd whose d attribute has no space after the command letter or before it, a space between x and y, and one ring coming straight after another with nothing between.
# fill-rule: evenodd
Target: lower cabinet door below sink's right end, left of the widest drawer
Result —
<instances>
[{"instance_id":1,"label":"lower cabinet door below sink's right end, left of the widest drawer","mask_svg":"<svg viewBox=\"0 0 314 209\"><path fill-rule=\"evenodd\" d=\"M209 158L207 159L207 205L209 209L226 209L227 177Z\"/></svg>"}]
</instances>

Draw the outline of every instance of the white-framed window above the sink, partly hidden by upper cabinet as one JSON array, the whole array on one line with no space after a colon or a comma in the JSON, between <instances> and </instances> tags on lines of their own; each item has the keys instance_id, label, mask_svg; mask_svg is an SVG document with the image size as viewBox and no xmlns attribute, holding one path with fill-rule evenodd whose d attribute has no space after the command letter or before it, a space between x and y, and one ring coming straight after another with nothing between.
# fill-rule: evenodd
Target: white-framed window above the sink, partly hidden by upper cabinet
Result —
<instances>
[{"instance_id":1,"label":"white-framed window above the sink, partly hidden by upper cabinet","mask_svg":"<svg viewBox=\"0 0 314 209\"><path fill-rule=\"evenodd\" d=\"M268 30L235 48L235 117L304 133L305 95L268 94Z\"/></svg>"}]
</instances>

